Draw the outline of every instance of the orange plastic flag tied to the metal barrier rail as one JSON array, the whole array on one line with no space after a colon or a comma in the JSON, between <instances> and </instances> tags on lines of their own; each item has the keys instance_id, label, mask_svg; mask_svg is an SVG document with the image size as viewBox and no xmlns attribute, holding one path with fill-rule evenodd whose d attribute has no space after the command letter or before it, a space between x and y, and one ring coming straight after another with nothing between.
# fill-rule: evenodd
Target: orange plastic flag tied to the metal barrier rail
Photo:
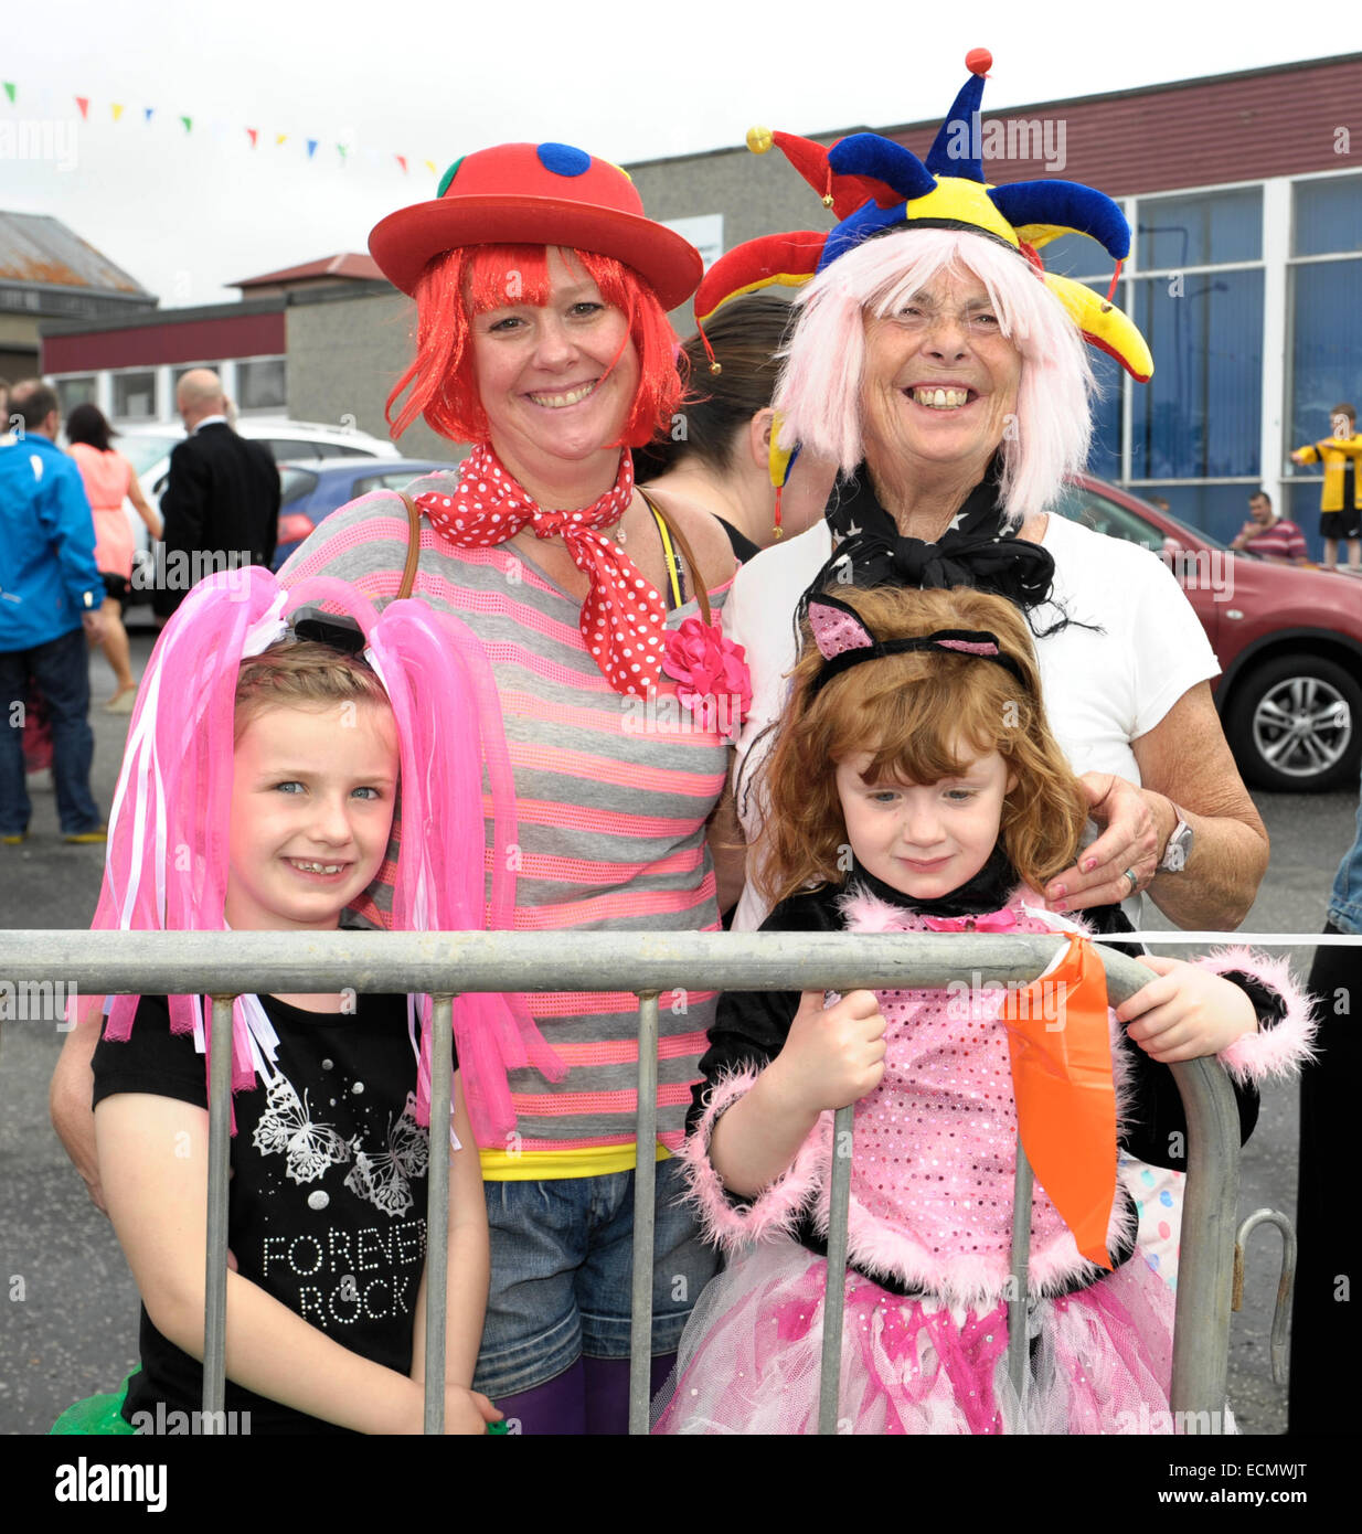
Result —
<instances>
[{"instance_id":1,"label":"orange plastic flag tied to the metal barrier rail","mask_svg":"<svg viewBox=\"0 0 1362 1534\"><path fill-rule=\"evenodd\" d=\"M1107 1224L1117 1197L1117 1094L1106 973L1074 934L1049 974L1014 991L1008 1025L1022 1147L1078 1250L1110 1269Z\"/></svg>"}]
</instances>

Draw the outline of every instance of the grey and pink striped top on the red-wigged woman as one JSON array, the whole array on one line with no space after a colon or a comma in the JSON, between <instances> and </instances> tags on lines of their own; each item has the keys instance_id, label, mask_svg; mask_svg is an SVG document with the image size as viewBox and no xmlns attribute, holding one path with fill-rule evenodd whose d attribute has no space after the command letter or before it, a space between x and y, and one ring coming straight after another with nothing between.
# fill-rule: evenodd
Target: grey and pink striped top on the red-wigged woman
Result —
<instances>
[{"instance_id":1,"label":"grey and pink striped top on the red-wigged woman","mask_svg":"<svg viewBox=\"0 0 1362 1534\"><path fill-rule=\"evenodd\" d=\"M446 483L431 476L411 491L443 491ZM331 575L382 607L397 595L406 546L402 500L377 492L327 517L282 578ZM414 595L472 627L497 680L518 815L515 928L718 928L706 819L724 787L724 738L701 732L675 707L666 678L647 719L640 700L615 693L583 644L580 603L518 551L456 549L425 522L420 548ZM729 583L710 592L715 611L727 592ZM690 601L667 614L667 626L693 614ZM391 910L393 867L390 848L362 911L376 922ZM512 1072L521 1138L511 1154L483 1152L485 1174L584 1175L632 1164L637 999L555 992L529 1003L569 1071L557 1085L534 1071ZM712 991L661 997L658 1138L667 1149L684 1137L713 1012Z\"/></svg>"}]
</instances>

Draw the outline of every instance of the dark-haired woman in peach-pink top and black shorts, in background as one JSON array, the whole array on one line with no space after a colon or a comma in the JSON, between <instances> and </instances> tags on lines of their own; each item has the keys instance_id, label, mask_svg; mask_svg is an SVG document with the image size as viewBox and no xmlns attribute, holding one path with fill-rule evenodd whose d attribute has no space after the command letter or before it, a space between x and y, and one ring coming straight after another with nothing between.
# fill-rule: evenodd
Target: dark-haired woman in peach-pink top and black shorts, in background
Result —
<instances>
[{"instance_id":1,"label":"dark-haired woman in peach-pink top and black shorts, in background","mask_svg":"<svg viewBox=\"0 0 1362 1534\"><path fill-rule=\"evenodd\" d=\"M77 405L66 420L66 440L80 468L95 518L95 563L104 577L104 638L101 649L114 667L117 687L104 704L109 713L132 713L137 683L129 666L127 630L123 627L123 600L132 580L132 526L123 511L126 495L147 525L153 538L161 537L161 518L147 505L132 465L109 446L114 436L97 405Z\"/></svg>"}]
</instances>

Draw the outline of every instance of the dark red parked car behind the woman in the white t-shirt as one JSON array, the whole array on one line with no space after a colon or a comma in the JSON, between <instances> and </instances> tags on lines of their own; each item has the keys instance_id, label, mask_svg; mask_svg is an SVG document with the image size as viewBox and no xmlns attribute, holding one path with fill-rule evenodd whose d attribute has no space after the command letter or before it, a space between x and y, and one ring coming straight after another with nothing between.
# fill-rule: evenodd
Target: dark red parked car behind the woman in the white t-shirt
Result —
<instances>
[{"instance_id":1,"label":"dark red parked car behind the woman in the white t-shirt","mask_svg":"<svg viewBox=\"0 0 1362 1534\"><path fill-rule=\"evenodd\" d=\"M1357 787L1362 577L1227 549L1086 474L1060 509L1153 549L1178 577L1221 663L1215 701L1247 782L1293 793Z\"/></svg>"}]
</instances>

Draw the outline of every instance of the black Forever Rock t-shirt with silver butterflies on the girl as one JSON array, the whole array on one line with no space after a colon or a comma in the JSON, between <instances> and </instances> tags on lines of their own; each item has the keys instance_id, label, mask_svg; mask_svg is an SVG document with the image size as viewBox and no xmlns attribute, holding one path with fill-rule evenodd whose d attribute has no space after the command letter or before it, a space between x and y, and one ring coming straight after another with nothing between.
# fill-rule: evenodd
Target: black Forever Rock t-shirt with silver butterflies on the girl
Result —
<instances>
[{"instance_id":1,"label":"black Forever Rock t-shirt with silver butterflies on the girl","mask_svg":"<svg viewBox=\"0 0 1362 1534\"><path fill-rule=\"evenodd\" d=\"M416 1055L405 996L359 996L353 1012L305 1012L261 997L279 1075L233 1098L229 1244L238 1272L327 1336L411 1370L425 1267L429 1143L416 1124ZM95 1103L150 1092L207 1106L204 1057L170 1032L164 997L143 997L132 1039L95 1048ZM123 1413L195 1413L202 1368L141 1312L141 1371ZM336 1433L227 1381L252 1433ZM190 1419L193 1420L193 1419Z\"/></svg>"}]
</instances>

